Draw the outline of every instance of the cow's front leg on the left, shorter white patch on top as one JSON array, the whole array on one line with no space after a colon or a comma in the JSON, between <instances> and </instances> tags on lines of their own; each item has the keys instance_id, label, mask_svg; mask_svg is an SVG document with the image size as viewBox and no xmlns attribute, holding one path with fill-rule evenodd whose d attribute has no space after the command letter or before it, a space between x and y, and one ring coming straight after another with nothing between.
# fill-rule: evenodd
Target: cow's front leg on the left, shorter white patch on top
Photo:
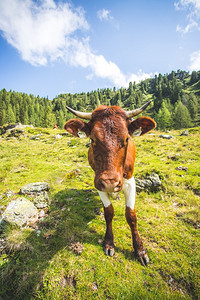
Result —
<instances>
[{"instance_id":1,"label":"cow's front leg on the left, shorter white patch on top","mask_svg":"<svg viewBox=\"0 0 200 300\"><path fill-rule=\"evenodd\" d=\"M98 191L101 201L104 207L104 217L106 220L106 234L104 239L104 252L106 255L113 256L114 251L114 241L113 241L113 231L112 231L112 219L114 216L114 208L110 202L108 193Z\"/></svg>"}]
</instances>

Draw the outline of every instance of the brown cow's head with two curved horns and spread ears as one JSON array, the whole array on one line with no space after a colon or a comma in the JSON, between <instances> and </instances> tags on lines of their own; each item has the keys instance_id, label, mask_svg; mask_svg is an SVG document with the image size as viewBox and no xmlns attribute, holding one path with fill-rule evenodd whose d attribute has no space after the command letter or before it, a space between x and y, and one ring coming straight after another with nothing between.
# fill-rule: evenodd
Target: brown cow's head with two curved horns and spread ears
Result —
<instances>
[{"instance_id":1,"label":"brown cow's head with two curved horns and spread ears","mask_svg":"<svg viewBox=\"0 0 200 300\"><path fill-rule=\"evenodd\" d=\"M149 117L130 119L141 113L150 103L126 112L118 106L100 106L92 113L67 109L81 119L69 120L64 128L74 136L83 131L90 137L88 160L95 171L95 187L104 192L118 192L122 189L123 177L129 179L133 173L135 146L131 139L134 131L141 135L156 127Z\"/></svg>"}]
</instances>

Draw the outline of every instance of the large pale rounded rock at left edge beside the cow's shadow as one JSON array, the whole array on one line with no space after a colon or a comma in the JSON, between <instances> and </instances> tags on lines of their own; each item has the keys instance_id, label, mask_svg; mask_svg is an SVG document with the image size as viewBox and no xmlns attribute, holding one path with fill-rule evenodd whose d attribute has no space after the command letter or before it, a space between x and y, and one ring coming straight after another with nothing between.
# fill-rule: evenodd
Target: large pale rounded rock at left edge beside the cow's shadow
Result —
<instances>
[{"instance_id":1,"label":"large pale rounded rock at left edge beside the cow's shadow","mask_svg":"<svg viewBox=\"0 0 200 300\"><path fill-rule=\"evenodd\" d=\"M11 201L2 215L3 220L13 225L23 226L38 220L38 210L26 198Z\"/></svg>"}]
</instances>

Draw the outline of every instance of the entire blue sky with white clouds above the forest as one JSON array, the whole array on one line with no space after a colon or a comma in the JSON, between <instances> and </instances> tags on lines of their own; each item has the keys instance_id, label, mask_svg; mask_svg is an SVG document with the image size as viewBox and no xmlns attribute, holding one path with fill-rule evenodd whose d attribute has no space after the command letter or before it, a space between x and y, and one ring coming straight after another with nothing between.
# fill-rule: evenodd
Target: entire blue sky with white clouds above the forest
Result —
<instances>
[{"instance_id":1,"label":"entire blue sky with white clouds above the forest","mask_svg":"<svg viewBox=\"0 0 200 300\"><path fill-rule=\"evenodd\" d=\"M48 96L200 70L200 0L0 0L0 89Z\"/></svg>"}]
</instances>

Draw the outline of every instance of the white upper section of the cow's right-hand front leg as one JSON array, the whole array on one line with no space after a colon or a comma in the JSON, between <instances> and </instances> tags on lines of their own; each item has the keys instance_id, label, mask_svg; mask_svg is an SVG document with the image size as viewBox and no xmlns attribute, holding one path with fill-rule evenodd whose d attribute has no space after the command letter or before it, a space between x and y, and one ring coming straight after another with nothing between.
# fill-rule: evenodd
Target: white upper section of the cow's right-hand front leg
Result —
<instances>
[{"instance_id":1,"label":"white upper section of the cow's right-hand front leg","mask_svg":"<svg viewBox=\"0 0 200 300\"><path fill-rule=\"evenodd\" d=\"M123 192L126 200L126 206L134 209L135 207L135 178L132 177L130 179L123 179Z\"/></svg>"}]
</instances>

